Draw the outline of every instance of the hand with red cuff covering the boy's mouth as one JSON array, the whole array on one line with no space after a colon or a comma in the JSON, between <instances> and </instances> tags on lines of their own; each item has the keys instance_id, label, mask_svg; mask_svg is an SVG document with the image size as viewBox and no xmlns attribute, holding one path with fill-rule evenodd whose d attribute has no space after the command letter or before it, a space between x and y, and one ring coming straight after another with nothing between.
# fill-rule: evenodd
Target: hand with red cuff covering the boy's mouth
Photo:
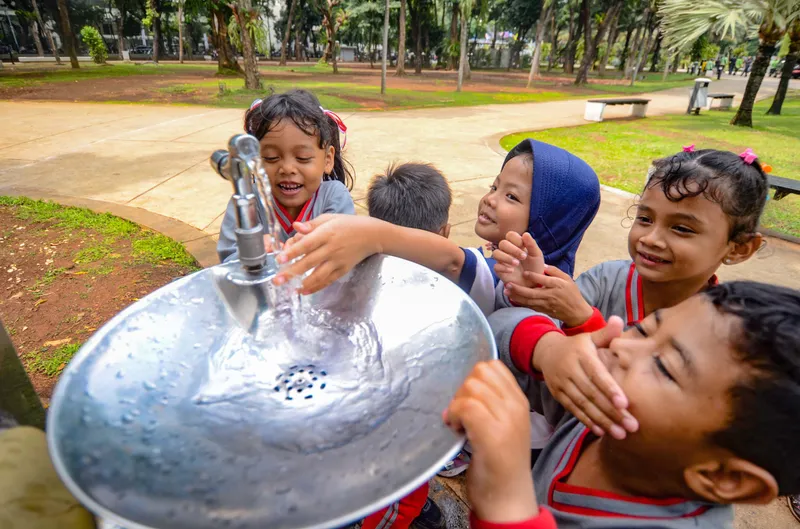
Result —
<instances>
[{"instance_id":1,"label":"hand with red cuff covering the boy's mouth","mask_svg":"<svg viewBox=\"0 0 800 529\"><path fill-rule=\"evenodd\" d=\"M597 353L622 334L622 320L612 316L605 328L566 337L547 333L533 354L550 393L596 435L624 439L639 423L627 411L628 399Z\"/></svg>"}]
</instances>

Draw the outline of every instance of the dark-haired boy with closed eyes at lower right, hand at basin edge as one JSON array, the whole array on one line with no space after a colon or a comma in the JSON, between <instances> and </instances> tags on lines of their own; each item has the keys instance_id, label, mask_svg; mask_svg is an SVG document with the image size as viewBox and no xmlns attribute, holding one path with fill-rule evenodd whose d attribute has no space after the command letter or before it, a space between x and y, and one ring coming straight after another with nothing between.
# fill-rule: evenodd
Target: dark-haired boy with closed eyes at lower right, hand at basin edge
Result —
<instances>
[{"instance_id":1,"label":"dark-haired boy with closed eyes at lower right, hand at basin edge","mask_svg":"<svg viewBox=\"0 0 800 529\"><path fill-rule=\"evenodd\" d=\"M506 361L524 312L489 318ZM456 393L444 418L474 449L473 528L723 528L733 504L800 492L800 292L731 282L621 327L592 339L641 422L624 440L593 435L532 377L520 391L497 361ZM532 476L528 406L558 425Z\"/></svg>"}]
</instances>

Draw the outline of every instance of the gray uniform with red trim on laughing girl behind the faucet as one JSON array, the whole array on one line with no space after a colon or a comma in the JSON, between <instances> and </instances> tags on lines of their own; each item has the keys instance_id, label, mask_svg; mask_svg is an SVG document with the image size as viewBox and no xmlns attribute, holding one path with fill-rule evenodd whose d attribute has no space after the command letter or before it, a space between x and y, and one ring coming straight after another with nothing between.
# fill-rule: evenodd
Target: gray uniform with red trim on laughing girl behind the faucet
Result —
<instances>
[{"instance_id":1,"label":"gray uniform with red trim on laughing girl behind the faucet","mask_svg":"<svg viewBox=\"0 0 800 529\"><path fill-rule=\"evenodd\" d=\"M325 180L317 189L296 219L291 219L286 212L286 209L278 204L274 199L272 201L275 208L275 214L278 217L278 235L281 242L286 242L292 235L294 235L294 228L292 228L293 221L307 222L325 213L345 213L348 215L355 215L355 205L353 198L350 196L350 191L347 187L338 180ZM262 225L266 225L266 213L261 204L257 205L258 219ZM236 247L236 235L234 229L236 228L236 211L233 199L228 202L228 208L225 210L225 217L222 219L222 226L219 229L219 242L217 242L217 255L221 263L233 261L239 258L239 249Z\"/></svg>"}]
</instances>

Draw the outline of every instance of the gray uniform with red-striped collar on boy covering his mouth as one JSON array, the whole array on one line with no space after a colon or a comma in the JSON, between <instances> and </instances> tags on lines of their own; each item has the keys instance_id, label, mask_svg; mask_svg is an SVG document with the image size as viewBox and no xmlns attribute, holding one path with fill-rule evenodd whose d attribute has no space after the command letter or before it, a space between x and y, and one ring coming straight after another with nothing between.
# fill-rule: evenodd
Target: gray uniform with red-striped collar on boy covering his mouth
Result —
<instances>
[{"instance_id":1,"label":"gray uniform with red-striped collar on boy covering his mouth","mask_svg":"<svg viewBox=\"0 0 800 529\"><path fill-rule=\"evenodd\" d=\"M502 309L489 317L489 323L497 340L500 358L514 373L528 397L531 409L542 413L556 427L533 467L533 481L536 500L539 505L550 509L558 528L732 528L731 506L681 498L627 497L565 483L580 456L584 441L591 433L553 398L544 381L536 380L514 367L509 350L511 335L517 324L530 315L531 311L527 309ZM643 468L642 472L647 472L647 469ZM654 480L658 478L658 475L652 476Z\"/></svg>"}]
</instances>

